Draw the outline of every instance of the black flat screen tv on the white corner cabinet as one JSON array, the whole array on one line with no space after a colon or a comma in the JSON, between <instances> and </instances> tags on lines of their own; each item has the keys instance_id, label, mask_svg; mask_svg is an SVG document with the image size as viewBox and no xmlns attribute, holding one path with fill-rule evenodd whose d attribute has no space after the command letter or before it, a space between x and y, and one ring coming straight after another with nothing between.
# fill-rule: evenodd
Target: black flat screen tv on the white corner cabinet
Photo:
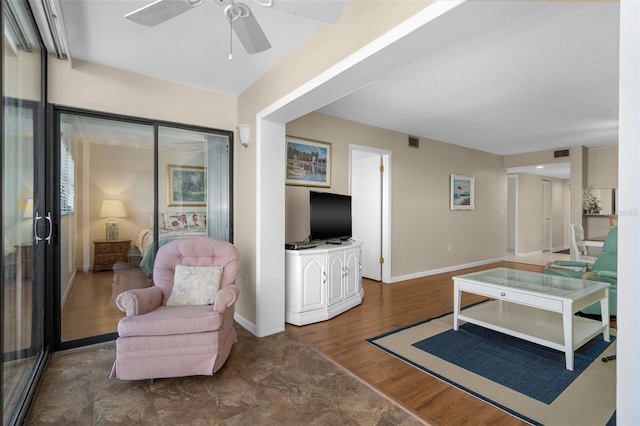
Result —
<instances>
[{"instance_id":1,"label":"black flat screen tv on the white corner cabinet","mask_svg":"<svg viewBox=\"0 0 640 426\"><path fill-rule=\"evenodd\" d=\"M309 192L311 241L351 238L351 196Z\"/></svg>"}]
</instances>

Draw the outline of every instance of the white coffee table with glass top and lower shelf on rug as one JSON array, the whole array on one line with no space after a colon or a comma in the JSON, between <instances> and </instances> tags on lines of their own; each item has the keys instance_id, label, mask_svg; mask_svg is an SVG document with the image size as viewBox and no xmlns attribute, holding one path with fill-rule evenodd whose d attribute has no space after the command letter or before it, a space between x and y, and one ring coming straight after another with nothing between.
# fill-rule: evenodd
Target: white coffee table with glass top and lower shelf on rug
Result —
<instances>
[{"instance_id":1,"label":"white coffee table with glass top and lower shelf on rug","mask_svg":"<svg viewBox=\"0 0 640 426\"><path fill-rule=\"evenodd\" d=\"M462 320L563 351L567 370L573 352L593 337L610 341L608 283L496 268L453 277L453 284L454 330ZM462 292L494 300L461 311ZM574 315L598 301L602 321Z\"/></svg>"}]
</instances>

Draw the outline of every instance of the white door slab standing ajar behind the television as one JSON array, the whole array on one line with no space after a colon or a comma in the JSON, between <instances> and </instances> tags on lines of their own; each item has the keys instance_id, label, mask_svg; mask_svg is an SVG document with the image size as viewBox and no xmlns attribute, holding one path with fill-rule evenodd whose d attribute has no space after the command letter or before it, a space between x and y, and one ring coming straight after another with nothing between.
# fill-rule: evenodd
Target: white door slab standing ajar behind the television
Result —
<instances>
[{"instance_id":1,"label":"white door slab standing ajar behind the television","mask_svg":"<svg viewBox=\"0 0 640 426\"><path fill-rule=\"evenodd\" d=\"M351 216L353 239L362 241L362 276L382 279L382 158L352 151Z\"/></svg>"}]
</instances>

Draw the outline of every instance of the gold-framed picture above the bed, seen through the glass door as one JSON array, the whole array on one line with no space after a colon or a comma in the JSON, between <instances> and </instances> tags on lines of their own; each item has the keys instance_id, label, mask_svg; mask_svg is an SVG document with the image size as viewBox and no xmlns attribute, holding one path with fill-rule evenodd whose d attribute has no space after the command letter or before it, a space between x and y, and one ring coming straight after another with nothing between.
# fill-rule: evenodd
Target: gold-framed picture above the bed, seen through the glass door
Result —
<instances>
[{"instance_id":1,"label":"gold-framed picture above the bed, seen through the glass door","mask_svg":"<svg viewBox=\"0 0 640 426\"><path fill-rule=\"evenodd\" d=\"M204 167L167 164L167 206L206 206Z\"/></svg>"}]
</instances>

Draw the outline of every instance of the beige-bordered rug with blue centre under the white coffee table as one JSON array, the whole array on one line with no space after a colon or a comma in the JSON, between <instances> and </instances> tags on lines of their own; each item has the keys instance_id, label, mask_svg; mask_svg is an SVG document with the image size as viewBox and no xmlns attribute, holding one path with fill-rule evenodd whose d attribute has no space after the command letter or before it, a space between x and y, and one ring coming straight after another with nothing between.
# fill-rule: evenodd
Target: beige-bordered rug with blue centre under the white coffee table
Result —
<instances>
[{"instance_id":1,"label":"beige-bordered rug with blue centre under the white coffee table","mask_svg":"<svg viewBox=\"0 0 640 426\"><path fill-rule=\"evenodd\" d=\"M604 425L615 416L615 342L596 336L579 348L574 371L564 353L464 324L447 314L367 342L532 424ZM612 341L615 330L611 330Z\"/></svg>"}]
</instances>

